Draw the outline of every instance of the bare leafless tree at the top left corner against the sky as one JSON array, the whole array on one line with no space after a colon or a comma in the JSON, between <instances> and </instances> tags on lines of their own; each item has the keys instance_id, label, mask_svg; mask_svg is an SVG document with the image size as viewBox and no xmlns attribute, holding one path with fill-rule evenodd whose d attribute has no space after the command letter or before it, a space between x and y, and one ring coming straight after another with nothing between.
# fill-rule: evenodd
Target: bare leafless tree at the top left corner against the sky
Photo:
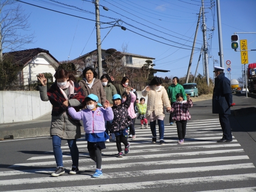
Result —
<instances>
[{"instance_id":1,"label":"bare leafless tree at the top left corner against the sky","mask_svg":"<svg viewBox=\"0 0 256 192\"><path fill-rule=\"evenodd\" d=\"M0 61L3 60L4 49L17 51L33 42L34 33L21 34L29 31L28 18L29 14L24 14L24 9L15 0L0 1Z\"/></svg>"}]
</instances>

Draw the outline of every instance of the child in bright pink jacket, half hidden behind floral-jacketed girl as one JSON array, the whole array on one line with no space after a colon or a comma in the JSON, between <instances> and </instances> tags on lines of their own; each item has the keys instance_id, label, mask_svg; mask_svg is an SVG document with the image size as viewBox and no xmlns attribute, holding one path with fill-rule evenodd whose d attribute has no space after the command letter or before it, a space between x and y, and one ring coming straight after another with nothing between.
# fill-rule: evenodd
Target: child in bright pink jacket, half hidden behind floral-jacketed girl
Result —
<instances>
[{"instance_id":1,"label":"child in bright pink jacket, half hidden behind floral-jacketed girl","mask_svg":"<svg viewBox=\"0 0 256 192\"><path fill-rule=\"evenodd\" d=\"M134 104L133 103L134 103L134 101L136 101L136 95L133 92L133 88L131 88L131 89L132 89L131 92L130 92L130 94L131 94L131 105L130 105L130 107L128 109L128 113L129 113L129 116L132 119L132 123L133 124L129 127L130 128L130 133L131 133L129 135L129 138L132 138L132 140L135 140L136 139L136 135L135 135L134 124L135 124L135 120L136 120L137 115L134 112ZM123 98L122 99L122 103L123 103L126 100L125 93L123 93L122 98Z\"/></svg>"}]
</instances>

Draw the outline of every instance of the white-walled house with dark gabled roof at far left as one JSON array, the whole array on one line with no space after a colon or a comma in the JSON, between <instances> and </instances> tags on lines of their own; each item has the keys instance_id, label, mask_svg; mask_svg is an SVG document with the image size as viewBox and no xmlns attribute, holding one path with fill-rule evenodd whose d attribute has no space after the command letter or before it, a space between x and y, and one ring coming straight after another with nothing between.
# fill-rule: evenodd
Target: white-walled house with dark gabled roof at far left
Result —
<instances>
[{"instance_id":1,"label":"white-walled house with dark gabled roof at far left","mask_svg":"<svg viewBox=\"0 0 256 192\"><path fill-rule=\"evenodd\" d=\"M45 49L25 49L5 54L12 56L14 62L21 67L21 71L17 74L20 79L37 79L36 75L44 72L50 72L54 75L55 69L52 65L59 65L58 60ZM55 81L54 78L53 81Z\"/></svg>"}]
</instances>

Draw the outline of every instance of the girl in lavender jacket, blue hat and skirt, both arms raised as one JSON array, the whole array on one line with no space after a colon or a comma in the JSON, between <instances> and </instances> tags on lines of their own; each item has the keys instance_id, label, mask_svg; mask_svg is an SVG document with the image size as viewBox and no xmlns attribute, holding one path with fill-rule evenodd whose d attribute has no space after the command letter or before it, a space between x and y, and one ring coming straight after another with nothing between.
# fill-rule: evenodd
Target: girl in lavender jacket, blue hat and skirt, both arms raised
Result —
<instances>
[{"instance_id":1,"label":"girl in lavender jacket, blue hat and skirt, both arms raised","mask_svg":"<svg viewBox=\"0 0 256 192\"><path fill-rule=\"evenodd\" d=\"M89 94L85 98L87 109L79 112L76 112L73 107L68 109L73 119L83 120L87 149L91 159L96 162L96 171L93 174L93 178L102 176L101 150L106 149L105 141L109 139L105 132L105 121L111 121L114 118L113 111L109 107L109 101L105 101L106 109L104 109L100 103L97 103L98 100L96 95Z\"/></svg>"}]
</instances>

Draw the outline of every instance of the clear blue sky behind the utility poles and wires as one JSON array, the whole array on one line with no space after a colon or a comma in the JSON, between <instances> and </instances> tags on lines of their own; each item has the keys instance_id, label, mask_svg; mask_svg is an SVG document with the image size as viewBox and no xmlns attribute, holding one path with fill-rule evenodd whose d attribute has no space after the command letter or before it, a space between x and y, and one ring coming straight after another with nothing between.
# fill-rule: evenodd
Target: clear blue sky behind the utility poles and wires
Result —
<instances>
[{"instance_id":1,"label":"clear blue sky behind the utility poles and wires","mask_svg":"<svg viewBox=\"0 0 256 192\"><path fill-rule=\"evenodd\" d=\"M91 0L22 1L95 20L95 6ZM220 66L217 10L216 2L215 6L211 7L211 2L214 0L204 0L204 2L210 56L209 75L213 78L213 60L218 60L219 64L215 65ZM58 61L72 60L96 49L95 21L56 13L22 2L19 4L22 5L25 14L30 14L28 22L31 28L25 33L35 34L34 43L25 45L25 49L39 47L49 50ZM101 22L121 19L123 22L119 24L127 28L124 31L115 26L107 36L111 28L101 29L101 39L106 36L102 42L102 49L121 50L122 44L128 44L127 52L156 58L153 60L156 64L154 68L170 71L157 72L156 76L183 77L187 74L198 13L202 5L200 0L100 0L99 4L109 9L105 11L100 6ZM255 8L256 0L220 0L224 66L226 68L227 60L231 61L231 79L241 77L242 69L240 52L231 49L231 35L234 32L256 32ZM101 24L102 28L111 26ZM256 49L256 34L239 34L239 38L247 39L248 49ZM192 74L196 71L202 42L203 34L200 26L193 55ZM249 51L248 56L249 63L256 63L256 51ZM198 72L203 74L202 57Z\"/></svg>"}]
</instances>

